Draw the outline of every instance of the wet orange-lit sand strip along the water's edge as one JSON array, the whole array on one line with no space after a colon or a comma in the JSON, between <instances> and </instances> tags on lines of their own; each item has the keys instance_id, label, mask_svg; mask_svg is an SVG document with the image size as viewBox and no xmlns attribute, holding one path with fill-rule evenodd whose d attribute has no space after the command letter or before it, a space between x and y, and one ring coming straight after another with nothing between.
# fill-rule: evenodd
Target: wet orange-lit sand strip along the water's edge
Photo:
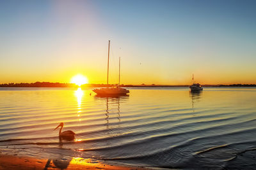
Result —
<instances>
[{"instance_id":1,"label":"wet orange-lit sand strip along the water's edge","mask_svg":"<svg viewBox=\"0 0 256 170\"><path fill-rule=\"evenodd\" d=\"M0 154L0 169L121 169L121 170L145 170L143 167L116 166L106 164L93 159L73 158L70 162L65 160L36 159L19 155Z\"/></svg>"}]
</instances>

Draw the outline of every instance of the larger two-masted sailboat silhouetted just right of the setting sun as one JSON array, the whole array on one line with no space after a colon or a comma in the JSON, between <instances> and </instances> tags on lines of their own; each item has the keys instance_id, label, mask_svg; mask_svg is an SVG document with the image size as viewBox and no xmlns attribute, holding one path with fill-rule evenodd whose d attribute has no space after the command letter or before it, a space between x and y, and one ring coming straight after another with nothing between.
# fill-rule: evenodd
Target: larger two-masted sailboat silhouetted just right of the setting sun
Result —
<instances>
[{"instance_id":1,"label":"larger two-masted sailboat silhouetted just right of the setting sun","mask_svg":"<svg viewBox=\"0 0 256 170\"><path fill-rule=\"evenodd\" d=\"M109 73L109 46L110 40L108 41L108 73ZM107 77L107 85L108 85L108 77ZM100 89L93 89L93 92L97 93L101 96L118 96L118 95L126 95L129 93L129 90L120 87L120 57L119 57L119 81L117 87L106 87Z\"/></svg>"}]
</instances>

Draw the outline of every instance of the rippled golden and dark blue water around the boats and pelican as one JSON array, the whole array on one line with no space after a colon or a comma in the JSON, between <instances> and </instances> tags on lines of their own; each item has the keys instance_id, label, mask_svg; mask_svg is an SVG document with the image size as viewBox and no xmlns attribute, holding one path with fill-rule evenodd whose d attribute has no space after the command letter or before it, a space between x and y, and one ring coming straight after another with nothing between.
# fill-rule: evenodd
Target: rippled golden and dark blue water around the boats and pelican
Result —
<instances>
[{"instance_id":1,"label":"rippled golden and dark blue water around the boats and pelican","mask_svg":"<svg viewBox=\"0 0 256 170\"><path fill-rule=\"evenodd\" d=\"M92 95L90 96L90 93ZM59 142L58 130L77 133ZM256 89L0 88L0 149L8 154L94 158L148 167L256 169Z\"/></svg>"}]
</instances>

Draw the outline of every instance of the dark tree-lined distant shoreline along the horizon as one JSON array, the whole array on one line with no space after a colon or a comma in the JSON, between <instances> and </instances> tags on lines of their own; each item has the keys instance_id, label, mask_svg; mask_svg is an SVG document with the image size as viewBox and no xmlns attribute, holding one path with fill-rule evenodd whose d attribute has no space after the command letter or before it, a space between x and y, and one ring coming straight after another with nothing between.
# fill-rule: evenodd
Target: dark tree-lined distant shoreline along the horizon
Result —
<instances>
[{"instance_id":1,"label":"dark tree-lined distant shoreline along the horizon","mask_svg":"<svg viewBox=\"0 0 256 170\"><path fill-rule=\"evenodd\" d=\"M81 87L116 87L117 84L85 84ZM120 85L120 87L188 87L189 85ZM256 87L256 84L232 84L232 85L202 85L203 87ZM35 83L2 83L0 87L79 87L74 83L51 83L51 82L35 82Z\"/></svg>"}]
</instances>

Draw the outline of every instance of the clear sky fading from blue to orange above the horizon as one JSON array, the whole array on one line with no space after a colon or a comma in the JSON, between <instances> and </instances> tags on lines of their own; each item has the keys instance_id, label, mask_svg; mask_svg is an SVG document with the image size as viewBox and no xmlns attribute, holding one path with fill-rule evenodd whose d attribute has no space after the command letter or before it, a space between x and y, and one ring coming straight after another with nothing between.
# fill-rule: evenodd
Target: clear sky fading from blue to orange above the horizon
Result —
<instances>
[{"instance_id":1,"label":"clear sky fading from blue to orange above the horizon","mask_svg":"<svg viewBox=\"0 0 256 170\"><path fill-rule=\"evenodd\" d=\"M256 1L0 1L0 83L256 83Z\"/></svg>"}]
</instances>

